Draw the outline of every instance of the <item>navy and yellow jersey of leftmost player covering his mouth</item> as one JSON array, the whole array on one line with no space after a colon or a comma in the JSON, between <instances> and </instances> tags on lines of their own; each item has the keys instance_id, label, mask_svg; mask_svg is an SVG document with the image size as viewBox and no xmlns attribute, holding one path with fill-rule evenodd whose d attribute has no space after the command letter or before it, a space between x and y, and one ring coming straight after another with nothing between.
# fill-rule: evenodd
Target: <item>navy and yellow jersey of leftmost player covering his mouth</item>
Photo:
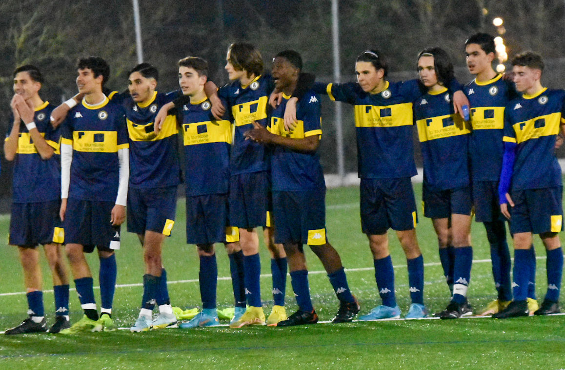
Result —
<instances>
[{"instance_id":1,"label":"navy and yellow jersey of leftmost player covering his mouth","mask_svg":"<svg viewBox=\"0 0 565 370\"><path fill-rule=\"evenodd\" d=\"M33 118L37 130L55 151L55 155L48 160L41 159L28 129L23 122L20 122L18 149L14 158L12 177L13 202L45 202L60 199L61 168L58 155L60 130L54 129L49 121L53 109L55 109L53 104L45 102L35 109ZM11 122L14 122L13 118ZM8 136L10 132L7 133L6 138Z\"/></svg>"}]
</instances>

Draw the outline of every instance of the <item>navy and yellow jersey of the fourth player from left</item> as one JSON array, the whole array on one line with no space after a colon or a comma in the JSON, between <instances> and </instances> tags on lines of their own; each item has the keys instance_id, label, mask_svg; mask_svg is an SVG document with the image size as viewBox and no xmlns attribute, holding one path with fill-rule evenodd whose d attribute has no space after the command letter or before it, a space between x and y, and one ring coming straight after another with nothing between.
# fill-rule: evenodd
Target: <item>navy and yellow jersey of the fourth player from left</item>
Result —
<instances>
[{"instance_id":1,"label":"navy and yellow jersey of the fourth player from left","mask_svg":"<svg viewBox=\"0 0 565 370\"><path fill-rule=\"evenodd\" d=\"M228 192L232 125L217 121L210 108L206 99L179 107L187 196Z\"/></svg>"}]
</instances>

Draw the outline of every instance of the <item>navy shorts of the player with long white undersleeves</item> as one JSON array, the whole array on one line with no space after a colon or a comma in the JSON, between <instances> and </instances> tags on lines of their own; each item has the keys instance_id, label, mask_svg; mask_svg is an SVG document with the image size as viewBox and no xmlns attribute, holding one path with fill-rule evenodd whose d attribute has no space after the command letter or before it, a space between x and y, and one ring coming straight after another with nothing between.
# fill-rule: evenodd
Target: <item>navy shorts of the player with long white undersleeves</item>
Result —
<instances>
[{"instance_id":1,"label":"navy shorts of the player with long white undersleeves","mask_svg":"<svg viewBox=\"0 0 565 370\"><path fill-rule=\"evenodd\" d=\"M114 202L69 198L65 213L65 243L82 244L84 252L94 247L120 249L120 226L112 226Z\"/></svg>"}]
</instances>

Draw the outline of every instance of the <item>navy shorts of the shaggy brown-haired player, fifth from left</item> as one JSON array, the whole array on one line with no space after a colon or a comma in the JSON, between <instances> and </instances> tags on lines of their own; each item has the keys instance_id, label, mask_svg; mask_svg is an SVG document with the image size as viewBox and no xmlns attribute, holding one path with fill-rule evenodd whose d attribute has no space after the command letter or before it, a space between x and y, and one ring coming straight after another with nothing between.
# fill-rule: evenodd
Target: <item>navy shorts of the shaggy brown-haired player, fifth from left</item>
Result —
<instances>
[{"instance_id":1,"label":"navy shorts of the shaggy brown-haired player, fifth from left","mask_svg":"<svg viewBox=\"0 0 565 370\"><path fill-rule=\"evenodd\" d=\"M267 226L267 171L232 175L229 178L229 221L232 226Z\"/></svg>"}]
</instances>

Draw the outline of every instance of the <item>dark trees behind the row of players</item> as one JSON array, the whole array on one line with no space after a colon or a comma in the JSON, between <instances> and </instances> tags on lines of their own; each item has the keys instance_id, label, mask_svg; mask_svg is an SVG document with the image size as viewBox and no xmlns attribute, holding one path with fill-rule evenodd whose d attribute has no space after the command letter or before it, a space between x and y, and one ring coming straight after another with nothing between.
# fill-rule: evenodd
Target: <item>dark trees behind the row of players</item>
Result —
<instances>
[{"instance_id":1,"label":"dark trees behind the row of players","mask_svg":"<svg viewBox=\"0 0 565 370\"><path fill-rule=\"evenodd\" d=\"M223 70L229 43L248 41L262 51L266 67L277 51L301 52L305 71L331 81L331 0L139 0L144 60L161 73L159 90L176 89L176 61L187 55L210 63L210 78L227 82ZM502 17L511 58L531 49L547 61L544 83L565 87L565 0L341 0L340 52L343 81L354 81L359 52L379 49L389 60L391 80L414 78L416 55L441 46L467 82L464 41L475 32L496 34ZM99 55L111 65L108 87L123 90L127 71L137 64L131 1L3 0L0 3L0 121L10 127L12 71L22 64L42 69L44 99L60 103L75 94L75 62ZM337 171L333 105L324 100L321 158L327 173ZM344 109L346 171L356 170L353 113ZM2 156L0 198L10 194L10 165Z\"/></svg>"}]
</instances>

